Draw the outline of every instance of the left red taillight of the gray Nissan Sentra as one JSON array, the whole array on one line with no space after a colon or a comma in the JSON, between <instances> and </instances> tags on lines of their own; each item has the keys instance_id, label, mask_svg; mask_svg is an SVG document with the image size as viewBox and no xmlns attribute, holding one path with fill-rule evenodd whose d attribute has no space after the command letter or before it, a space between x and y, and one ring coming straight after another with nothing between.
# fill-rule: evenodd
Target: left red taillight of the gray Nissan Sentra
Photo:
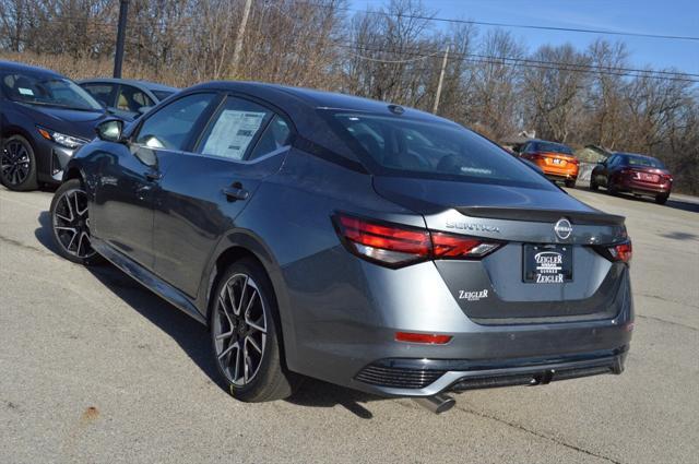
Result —
<instances>
[{"instance_id":1,"label":"left red taillight of the gray Nissan Sentra","mask_svg":"<svg viewBox=\"0 0 699 464\"><path fill-rule=\"evenodd\" d=\"M334 216L337 235L354 254L390 267L427 260L477 260L501 243L430 231L346 214Z\"/></svg>"}]
</instances>

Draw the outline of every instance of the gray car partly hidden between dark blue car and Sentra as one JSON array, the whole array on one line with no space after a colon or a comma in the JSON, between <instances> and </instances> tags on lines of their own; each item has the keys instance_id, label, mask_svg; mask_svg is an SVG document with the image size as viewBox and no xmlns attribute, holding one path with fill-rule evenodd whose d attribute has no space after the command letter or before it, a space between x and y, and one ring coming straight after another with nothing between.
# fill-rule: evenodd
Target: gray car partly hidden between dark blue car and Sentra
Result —
<instances>
[{"instance_id":1,"label":"gray car partly hidden between dark blue car and Sentra","mask_svg":"<svg viewBox=\"0 0 699 464\"><path fill-rule=\"evenodd\" d=\"M179 92L167 85L128 79L86 79L78 84L109 112L129 121Z\"/></svg>"}]
</instances>

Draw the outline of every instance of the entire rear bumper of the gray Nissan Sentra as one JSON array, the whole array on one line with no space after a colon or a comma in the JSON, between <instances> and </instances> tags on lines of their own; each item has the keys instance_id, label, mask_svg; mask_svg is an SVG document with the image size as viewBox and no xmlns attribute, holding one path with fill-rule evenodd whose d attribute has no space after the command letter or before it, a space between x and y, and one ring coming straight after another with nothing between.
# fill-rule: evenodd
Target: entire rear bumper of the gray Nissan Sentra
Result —
<instances>
[{"instance_id":1,"label":"entire rear bumper of the gray Nissan Sentra","mask_svg":"<svg viewBox=\"0 0 699 464\"><path fill-rule=\"evenodd\" d=\"M387 396L547 383L605 373L605 366L611 373L621 371L626 352L621 347L630 344L633 328L628 278L623 278L617 297L609 301L614 310L594 318L506 318L485 323L464 313L434 263L401 270L356 264L364 267L368 287L351 294L346 287L332 287L322 298L322 310L317 296L294 305L295 333L286 336L295 340L286 350L289 369ZM343 266L343 273L351 274L351 269L352 264ZM363 287L359 282L354 285ZM493 310L497 309L494 305ZM452 338L443 345L405 343L395 341L396 332ZM424 369L425 362L438 368ZM399 378L423 383L383 382L390 376L383 379L381 369L393 366L407 369L396 371Z\"/></svg>"}]
</instances>

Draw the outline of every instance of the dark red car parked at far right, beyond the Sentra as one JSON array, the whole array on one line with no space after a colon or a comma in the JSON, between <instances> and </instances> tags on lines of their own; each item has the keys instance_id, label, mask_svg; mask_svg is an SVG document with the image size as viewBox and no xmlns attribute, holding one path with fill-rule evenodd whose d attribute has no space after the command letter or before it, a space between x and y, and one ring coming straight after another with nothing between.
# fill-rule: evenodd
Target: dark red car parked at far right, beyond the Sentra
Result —
<instances>
[{"instance_id":1,"label":"dark red car parked at far right, beyond the Sentra","mask_svg":"<svg viewBox=\"0 0 699 464\"><path fill-rule=\"evenodd\" d=\"M590 189L605 187L611 194L629 192L653 197L664 204L673 189L673 176L657 158L635 153L614 153L592 170Z\"/></svg>"}]
</instances>

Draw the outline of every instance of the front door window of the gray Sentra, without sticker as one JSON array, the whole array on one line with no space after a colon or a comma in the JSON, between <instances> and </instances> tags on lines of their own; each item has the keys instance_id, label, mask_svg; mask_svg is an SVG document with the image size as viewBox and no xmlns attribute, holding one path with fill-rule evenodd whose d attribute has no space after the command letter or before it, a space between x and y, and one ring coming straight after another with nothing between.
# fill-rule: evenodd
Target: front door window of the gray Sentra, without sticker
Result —
<instances>
[{"instance_id":1,"label":"front door window of the gray Sentra, without sticker","mask_svg":"<svg viewBox=\"0 0 699 464\"><path fill-rule=\"evenodd\" d=\"M151 148L185 150L194 126L215 94L193 94L176 99L150 116L135 143Z\"/></svg>"}]
</instances>

